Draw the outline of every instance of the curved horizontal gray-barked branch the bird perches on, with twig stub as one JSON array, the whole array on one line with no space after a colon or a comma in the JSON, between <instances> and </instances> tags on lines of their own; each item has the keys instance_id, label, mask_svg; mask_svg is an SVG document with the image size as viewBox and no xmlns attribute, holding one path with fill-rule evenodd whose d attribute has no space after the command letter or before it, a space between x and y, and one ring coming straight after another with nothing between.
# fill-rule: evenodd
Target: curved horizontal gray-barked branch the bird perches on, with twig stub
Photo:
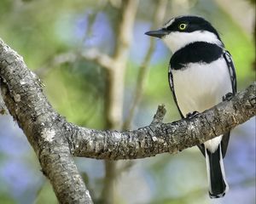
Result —
<instances>
[{"instance_id":1,"label":"curved horizontal gray-barked branch the bird perches on, with twig stub","mask_svg":"<svg viewBox=\"0 0 256 204\"><path fill-rule=\"evenodd\" d=\"M191 119L172 123L160 122L165 113L160 106L158 116L148 127L132 131L99 131L70 125L75 130L73 155L97 159L136 159L164 152L176 153L202 144L255 116L255 91L254 82L230 101L224 101Z\"/></svg>"}]
</instances>

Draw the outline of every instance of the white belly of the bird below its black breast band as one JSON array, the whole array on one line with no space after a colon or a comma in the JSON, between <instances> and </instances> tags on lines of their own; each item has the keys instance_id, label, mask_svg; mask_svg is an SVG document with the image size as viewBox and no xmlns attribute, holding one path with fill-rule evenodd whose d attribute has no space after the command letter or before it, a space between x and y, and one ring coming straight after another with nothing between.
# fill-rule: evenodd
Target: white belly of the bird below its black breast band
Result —
<instances>
[{"instance_id":1,"label":"white belly of the bird below its black breast band","mask_svg":"<svg viewBox=\"0 0 256 204\"><path fill-rule=\"evenodd\" d=\"M183 116L193 111L206 111L232 92L229 69L223 58L210 65L189 63L183 70L172 70L172 75L177 105ZM221 139L221 136L211 139L205 145L214 151Z\"/></svg>"}]
</instances>

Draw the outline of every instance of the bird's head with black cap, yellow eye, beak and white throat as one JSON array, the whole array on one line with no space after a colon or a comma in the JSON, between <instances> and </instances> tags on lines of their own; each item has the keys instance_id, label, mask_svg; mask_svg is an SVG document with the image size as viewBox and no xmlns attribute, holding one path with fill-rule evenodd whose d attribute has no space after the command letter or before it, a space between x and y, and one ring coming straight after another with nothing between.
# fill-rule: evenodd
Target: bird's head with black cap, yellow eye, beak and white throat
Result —
<instances>
[{"instance_id":1,"label":"bird's head with black cap, yellow eye, beak and white throat","mask_svg":"<svg viewBox=\"0 0 256 204\"><path fill-rule=\"evenodd\" d=\"M198 16L175 17L168 20L159 30L148 31L145 34L160 37L172 53L192 42L210 42L224 47L216 29L207 20Z\"/></svg>"}]
</instances>

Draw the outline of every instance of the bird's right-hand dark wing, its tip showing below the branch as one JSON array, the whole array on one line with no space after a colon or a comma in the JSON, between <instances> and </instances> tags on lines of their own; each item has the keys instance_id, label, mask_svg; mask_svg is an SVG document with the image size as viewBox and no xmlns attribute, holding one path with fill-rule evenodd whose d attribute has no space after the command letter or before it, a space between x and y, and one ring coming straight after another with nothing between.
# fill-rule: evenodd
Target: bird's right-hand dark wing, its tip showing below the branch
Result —
<instances>
[{"instance_id":1,"label":"bird's right-hand dark wing, its tip showing below the branch","mask_svg":"<svg viewBox=\"0 0 256 204\"><path fill-rule=\"evenodd\" d=\"M232 60L232 57L231 57L231 54L229 53L229 51L224 51L224 59L228 65L228 69L230 72L232 94L236 94L236 71L235 71L235 65L233 63L233 60ZM222 150L223 157L226 155L229 140L230 140L230 132L224 133L222 141L221 141L221 150Z\"/></svg>"}]
</instances>

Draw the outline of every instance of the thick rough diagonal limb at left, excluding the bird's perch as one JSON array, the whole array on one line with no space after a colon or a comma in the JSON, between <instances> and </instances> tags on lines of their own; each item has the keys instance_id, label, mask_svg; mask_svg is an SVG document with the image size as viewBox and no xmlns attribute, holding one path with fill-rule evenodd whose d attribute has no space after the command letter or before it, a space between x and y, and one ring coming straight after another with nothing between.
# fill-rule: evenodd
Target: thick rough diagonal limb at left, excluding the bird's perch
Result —
<instances>
[{"instance_id":1,"label":"thick rough diagonal limb at left, excluding the bird's perch","mask_svg":"<svg viewBox=\"0 0 256 204\"><path fill-rule=\"evenodd\" d=\"M71 130L43 94L38 77L0 38L3 101L35 150L42 172L61 203L92 203L70 154Z\"/></svg>"}]
</instances>

